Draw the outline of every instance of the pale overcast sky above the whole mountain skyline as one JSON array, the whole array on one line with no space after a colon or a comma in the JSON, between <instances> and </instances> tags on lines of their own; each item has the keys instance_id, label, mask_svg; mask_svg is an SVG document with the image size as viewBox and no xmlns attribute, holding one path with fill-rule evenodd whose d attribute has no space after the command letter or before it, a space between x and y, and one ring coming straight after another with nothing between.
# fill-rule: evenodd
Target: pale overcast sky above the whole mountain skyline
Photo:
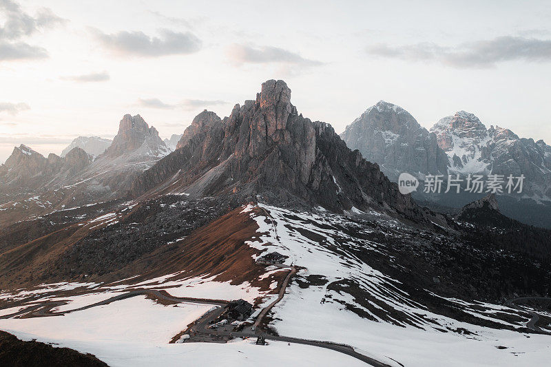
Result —
<instances>
[{"instance_id":1,"label":"pale overcast sky above the whole mountain skyline","mask_svg":"<svg viewBox=\"0 0 551 367\"><path fill-rule=\"evenodd\" d=\"M551 143L551 1L0 0L0 162L227 116L271 78L337 132L379 100Z\"/></svg>"}]
</instances>

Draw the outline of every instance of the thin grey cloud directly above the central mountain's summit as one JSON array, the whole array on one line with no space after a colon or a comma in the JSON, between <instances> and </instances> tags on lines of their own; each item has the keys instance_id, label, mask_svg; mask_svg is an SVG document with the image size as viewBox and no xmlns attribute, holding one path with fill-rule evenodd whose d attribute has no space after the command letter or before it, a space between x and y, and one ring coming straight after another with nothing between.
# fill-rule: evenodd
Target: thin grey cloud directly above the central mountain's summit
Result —
<instances>
[{"instance_id":1,"label":"thin grey cloud directly above the central mountain's summit","mask_svg":"<svg viewBox=\"0 0 551 367\"><path fill-rule=\"evenodd\" d=\"M323 65L321 61L304 59L298 53L272 46L252 47L233 43L226 53L229 60L238 66L246 63L280 63L302 67Z\"/></svg>"}]
</instances>

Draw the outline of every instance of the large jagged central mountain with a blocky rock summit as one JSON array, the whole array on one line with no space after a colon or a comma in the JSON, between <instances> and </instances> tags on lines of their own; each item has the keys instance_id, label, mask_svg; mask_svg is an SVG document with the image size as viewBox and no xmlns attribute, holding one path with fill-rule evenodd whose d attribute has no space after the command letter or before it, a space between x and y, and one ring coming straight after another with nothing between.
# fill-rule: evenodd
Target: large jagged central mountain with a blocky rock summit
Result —
<instances>
[{"instance_id":1,"label":"large jagged central mountain with a blocky rock summit","mask_svg":"<svg viewBox=\"0 0 551 367\"><path fill-rule=\"evenodd\" d=\"M335 211L355 206L410 218L426 215L378 165L346 147L333 127L299 115L283 81L263 83L256 100L236 105L223 120L202 112L178 148L133 183L135 196L233 192L251 200L258 194L303 200Z\"/></svg>"}]
</instances>

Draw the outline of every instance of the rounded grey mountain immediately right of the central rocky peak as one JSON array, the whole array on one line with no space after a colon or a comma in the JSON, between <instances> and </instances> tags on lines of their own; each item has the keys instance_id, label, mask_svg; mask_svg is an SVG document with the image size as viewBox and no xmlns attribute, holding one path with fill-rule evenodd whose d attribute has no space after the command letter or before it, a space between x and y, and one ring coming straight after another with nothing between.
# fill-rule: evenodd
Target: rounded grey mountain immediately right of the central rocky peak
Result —
<instances>
[{"instance_id":1,"label":"rounded grey mountain immediately right of the central rocky peak","mask_svg":"<svg viewBox=\"0 0 551 367\"><path fill-rule=\"evenodd\" d=\"M446 174L448 160L435 134L419 125L406 110L380 101L341 134L350 149L358 149L395 179L402 172Z\"/></svg>"}]
</instances>

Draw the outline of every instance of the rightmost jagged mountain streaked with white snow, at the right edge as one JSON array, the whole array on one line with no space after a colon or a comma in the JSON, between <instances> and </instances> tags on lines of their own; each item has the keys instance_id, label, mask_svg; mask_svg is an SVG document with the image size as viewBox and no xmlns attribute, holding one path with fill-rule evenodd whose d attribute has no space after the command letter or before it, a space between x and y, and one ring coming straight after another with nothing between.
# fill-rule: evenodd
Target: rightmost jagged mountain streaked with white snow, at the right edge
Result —
<instances>
[{"instance_id":1,"label":"rightmost jagged mountain streaked with white snow, at the right edge","mask_svg":"<svg viewBox=\"0 0 551 367\"><path fill-rule=\"evenodd\" d=\"M430 129L450 162L450 173L526 176L526 193L551 200L551 147L519 138L510 129L486 126L460 111Z\"/></svg>"}]
</instances>

